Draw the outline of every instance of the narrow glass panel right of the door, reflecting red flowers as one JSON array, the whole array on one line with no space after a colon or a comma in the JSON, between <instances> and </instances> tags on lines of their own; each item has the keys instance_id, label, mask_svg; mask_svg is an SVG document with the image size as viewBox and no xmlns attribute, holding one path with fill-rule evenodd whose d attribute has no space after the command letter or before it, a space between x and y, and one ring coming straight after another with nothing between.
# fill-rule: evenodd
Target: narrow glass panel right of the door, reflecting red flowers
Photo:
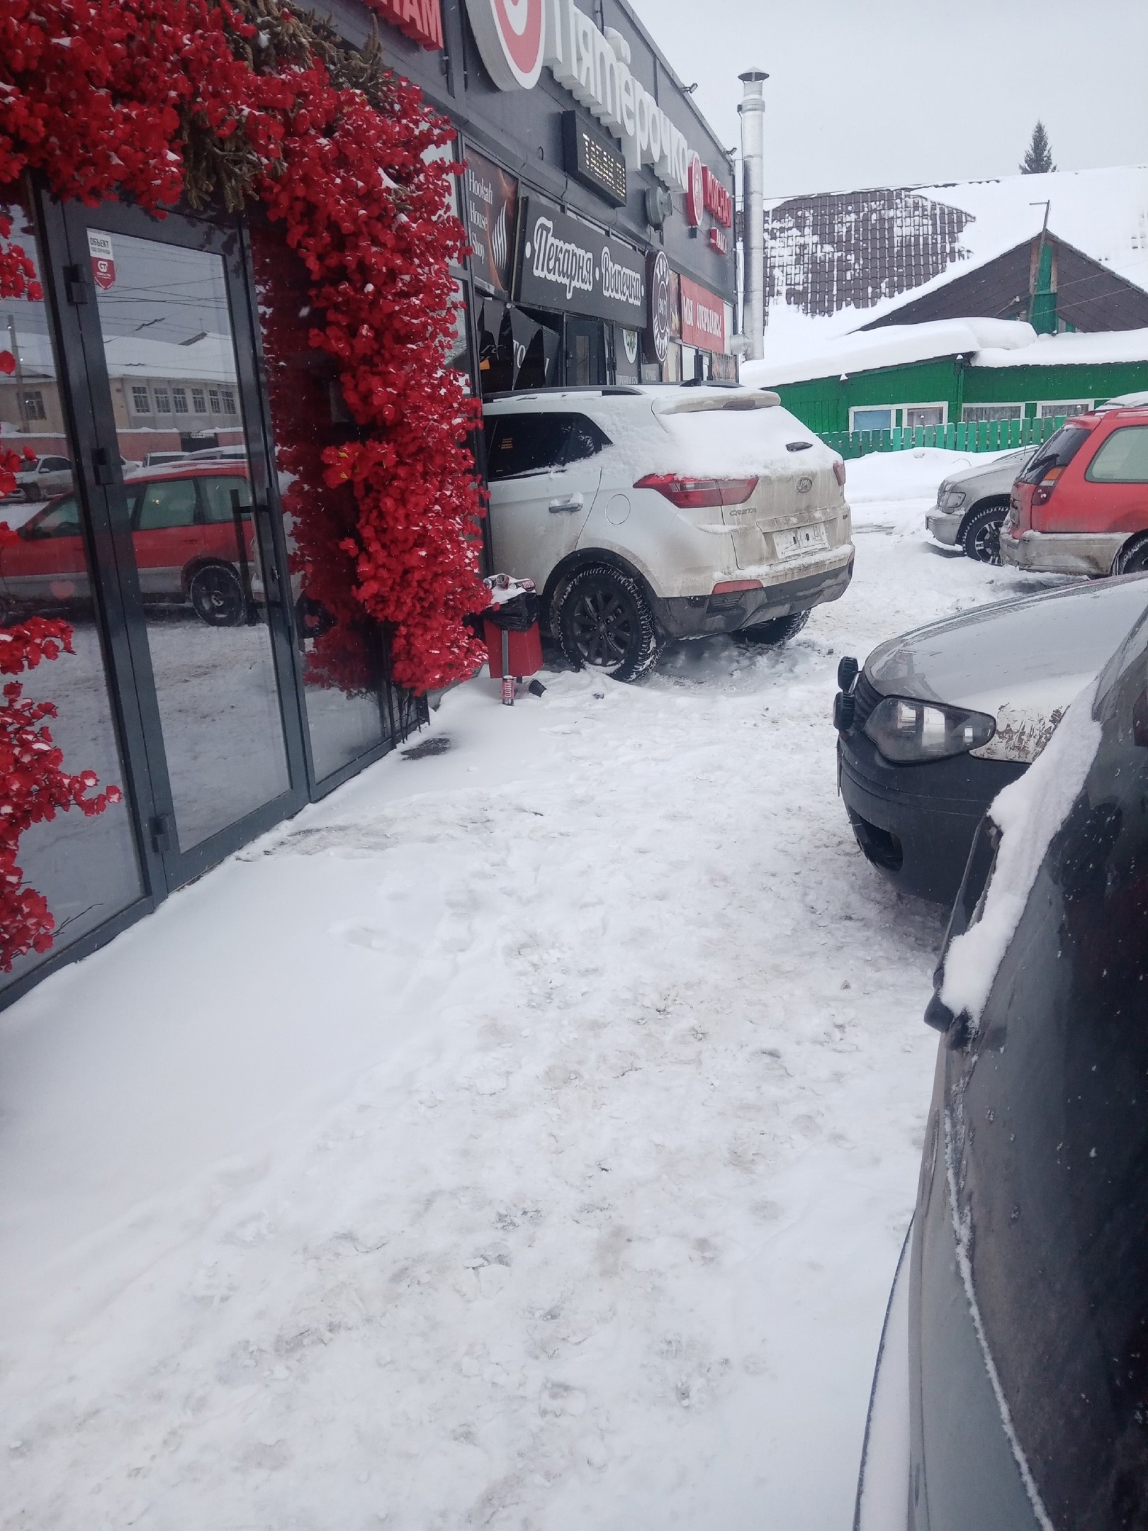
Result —
<instances>
[{"instance_id":1,"label":"narrow glass panel right of the door, reflecting red flowers","mask_svg":"<svg viewBox=\"0 0 1148 1531\"><path fill-rule=\"evenodd\" d=\"M325 449L354 441L355 424L334 360L309 344L315 315L306 268L262 224L251 228L251 246L260 292L274 288L274 302L260 302L263 360L311 755L321 781L390 736L389 710L380 704L378 631L352 596L355 565L340 548L357 527L355 491L349 484L332 488L323 476Z\"/></svg>"}]
</instances>

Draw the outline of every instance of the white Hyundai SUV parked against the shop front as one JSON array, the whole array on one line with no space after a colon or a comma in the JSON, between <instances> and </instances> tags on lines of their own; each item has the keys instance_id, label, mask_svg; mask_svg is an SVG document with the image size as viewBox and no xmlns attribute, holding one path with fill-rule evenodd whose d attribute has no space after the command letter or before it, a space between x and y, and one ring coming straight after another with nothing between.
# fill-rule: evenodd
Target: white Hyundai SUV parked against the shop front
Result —
<instances>
[{"instance_id":1,"label":"white Hyundai SUV parked against the shop front","mask_svg":"<svg viewBox=\"0 0 1148 1531\"><path fill-rule=\"evenodd\" d=\"M666 638L781 643L853 577L845 464L776 393L540 389L484 406L494 568L533 579L577 668Z\"/></svg>"}]
</instances>

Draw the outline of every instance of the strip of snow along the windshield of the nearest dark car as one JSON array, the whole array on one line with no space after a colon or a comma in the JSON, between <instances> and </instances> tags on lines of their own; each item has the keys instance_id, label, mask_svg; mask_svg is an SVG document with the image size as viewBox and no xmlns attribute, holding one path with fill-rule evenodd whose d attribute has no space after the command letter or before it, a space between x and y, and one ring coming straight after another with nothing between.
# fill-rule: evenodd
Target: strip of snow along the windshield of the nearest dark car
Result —
<instances>
[{"instance_id":1,"label":"strip of snow along the windshield of the nearest dark car","mask_svg":"<svg viewBox=\"0 0 1148 1531\"><path fill-rule=\"evenodd\" d=\"M992 819L1001 830L992 882L980 920L946 954L941 987L941 1000L952 1014L966 1014L974 1024L981 1018L1052 837L1068 818L1099 749L1094 695L1093 678L1044 752L992 805Z\"/></svg>"}]
</instances>

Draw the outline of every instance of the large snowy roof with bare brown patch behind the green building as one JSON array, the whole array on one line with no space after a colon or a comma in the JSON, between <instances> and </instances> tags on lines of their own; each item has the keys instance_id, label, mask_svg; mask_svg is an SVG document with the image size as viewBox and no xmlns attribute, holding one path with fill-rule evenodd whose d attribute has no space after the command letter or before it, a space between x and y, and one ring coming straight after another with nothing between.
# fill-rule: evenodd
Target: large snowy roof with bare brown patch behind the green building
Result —
<instances>
[{"instance_id":1,"label":"large snowy roof with bare brown patch behind the green building","mask_svg":"<svg viewBox=\"0 0 1148 1531\"><path fill-rule=\"evenodd\" d=\"M831 204L828 227L827 210L816 207L822 201ZM1035 239L1045 202L1056 239L1148 291L1148 165L778 197L765 204L767 263L796 259L799 274L790 273L781 283L775 274L781 291L768 305L767 346L771 338L788 344L799 337L808 343L848 334L977 271ZM889 228L889 237L876 240L889 269L874 271L866 282L856 265L869 259L865 234L874 220ZM837 240L857 246L843 300L825 303L822 295L820 311L810 312L802 306L801 271L823 271Z\"/></svg>"}]
</instances>

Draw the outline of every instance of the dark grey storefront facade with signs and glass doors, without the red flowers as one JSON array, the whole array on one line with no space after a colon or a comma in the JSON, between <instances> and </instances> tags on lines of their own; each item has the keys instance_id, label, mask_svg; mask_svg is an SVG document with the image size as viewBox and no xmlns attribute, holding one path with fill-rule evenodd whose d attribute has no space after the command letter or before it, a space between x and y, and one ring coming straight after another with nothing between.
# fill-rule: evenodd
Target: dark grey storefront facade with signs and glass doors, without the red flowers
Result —
<instances>
[{"instance_id":1,"label":"dark grey storefront facade with signs and glass doors, without the red flowers","mask_svg":"<svg viewBox=\"0 0 1148 1531\"><path fill-rule=\"evenodd\" d=\"M450 361L475 392L732 367L730 162L620 0L516 6L542 37L522 80L494 51L517 37L505 0L325 9L456 130L473 253ZM0 302L0 441L52 467L0 505L0 622L72 625L75 652L24 689L55 704L66 769L122 788L23 834L55 939L0 974L8 1003L378 759L424 703L392 684L386 634L309 586L291 484L306 465L321 484L355 427L282 233L257 211L61 205L28 181L0 213L43 288ZM312 513L354 527L351 485Z\"/></svg>"}]
</instances>

